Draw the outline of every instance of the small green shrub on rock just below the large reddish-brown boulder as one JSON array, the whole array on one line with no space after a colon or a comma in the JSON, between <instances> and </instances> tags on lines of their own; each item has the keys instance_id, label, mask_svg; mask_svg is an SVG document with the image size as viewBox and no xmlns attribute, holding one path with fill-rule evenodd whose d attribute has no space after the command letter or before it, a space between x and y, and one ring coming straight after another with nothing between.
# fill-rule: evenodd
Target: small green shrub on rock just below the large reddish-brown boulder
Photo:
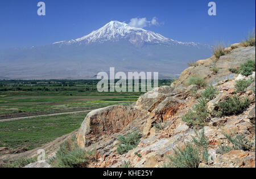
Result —
<instances>
[{"instance_id":1,"label":"small green shrub on rock just below the large reddish-brown boulder","mask_svg":"<svg viewBox=\"0 0 256 179\"><path fill-rule=\"evenodd\" d=\"M117 152L123 155L133 148L136 148L141 140L141 137L142 135L138 131L129 133L126 135L126 137L119 135L118 140L121 142L121 144L118 144Z\"/></svg>"}]
</instances>

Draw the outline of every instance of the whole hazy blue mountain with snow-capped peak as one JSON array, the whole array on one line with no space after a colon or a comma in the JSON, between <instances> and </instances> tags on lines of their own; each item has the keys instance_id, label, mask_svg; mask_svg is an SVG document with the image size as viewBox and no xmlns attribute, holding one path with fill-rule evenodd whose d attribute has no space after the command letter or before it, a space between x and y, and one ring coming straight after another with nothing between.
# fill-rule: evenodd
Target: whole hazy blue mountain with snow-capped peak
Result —
<instances>
[{"instance_id":1,"label":"whole hazy blue mountain with snow-capped peak","mask_svg":"<svg viewBox=\"0 0 256 179\"><path fill-rule=\"evenodd\" d=\"M159 33L112 21L78 39L51 45L0 50L4 79L89 79L98 72L158 71L172 78L189 61L210 56L210 45L180 42Z\"/></svg>"}]
</instances>

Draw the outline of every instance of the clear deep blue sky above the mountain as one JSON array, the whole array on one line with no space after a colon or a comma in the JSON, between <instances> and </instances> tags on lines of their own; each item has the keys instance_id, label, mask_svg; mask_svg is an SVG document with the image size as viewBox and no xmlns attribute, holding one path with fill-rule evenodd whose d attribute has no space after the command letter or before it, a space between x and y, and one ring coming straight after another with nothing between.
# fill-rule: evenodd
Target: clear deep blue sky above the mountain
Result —
<instances>
[{"instance_id":1,"label":"clear deep blue sky above the mountain","mask_svg":"<svg viewBox=\"0 0 256 179\"><path fill-rule=\"evenodd\" d=\"M255 0L88 1L41 0L46 16L37 15L36 0L0 1L0 48L47 45L87 35L111 20L156 17L159 25L144 29L179 41L227 45L255 28ZM208 15L216 2L217 16Z\"/></svg>"}]
</instances>

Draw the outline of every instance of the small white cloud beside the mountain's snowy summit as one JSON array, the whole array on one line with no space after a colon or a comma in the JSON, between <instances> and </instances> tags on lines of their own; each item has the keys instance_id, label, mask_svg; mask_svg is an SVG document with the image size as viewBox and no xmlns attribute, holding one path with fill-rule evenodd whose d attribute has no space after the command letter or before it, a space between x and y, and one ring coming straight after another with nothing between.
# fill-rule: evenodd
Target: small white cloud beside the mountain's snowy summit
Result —
<instances>
[{"instance_id":1,"label":"small white cloud beside the mountain's snowy summit","mask_svg":"<svg viewBox=\"0 0 256 179\"><path fill-rule=\"evenodd\" d=\"M133 18L130 20L129 25L131 27L143 28L151 25L159 25L156 17L152 18L152 20L147 20L147 18Z\"/></svg>"}]
</instances>

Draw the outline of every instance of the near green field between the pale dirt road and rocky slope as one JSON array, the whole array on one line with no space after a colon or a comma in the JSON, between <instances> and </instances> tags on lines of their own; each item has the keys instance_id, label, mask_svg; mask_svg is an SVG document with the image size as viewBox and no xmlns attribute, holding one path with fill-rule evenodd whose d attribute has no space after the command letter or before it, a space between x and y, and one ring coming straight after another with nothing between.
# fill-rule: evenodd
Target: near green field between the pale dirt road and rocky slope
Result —
<instances>
[{"instance_id":1,"label":"near green field between the pale dirt road and rocky slope","mask_svg":"<svg viewBox=\"0 0 256 179\"><path fill-rule=\"evenodd\" d=\"M0 147L31 150L78 129L86 113L0 122Z\"/></svg>"}]
</instances>

